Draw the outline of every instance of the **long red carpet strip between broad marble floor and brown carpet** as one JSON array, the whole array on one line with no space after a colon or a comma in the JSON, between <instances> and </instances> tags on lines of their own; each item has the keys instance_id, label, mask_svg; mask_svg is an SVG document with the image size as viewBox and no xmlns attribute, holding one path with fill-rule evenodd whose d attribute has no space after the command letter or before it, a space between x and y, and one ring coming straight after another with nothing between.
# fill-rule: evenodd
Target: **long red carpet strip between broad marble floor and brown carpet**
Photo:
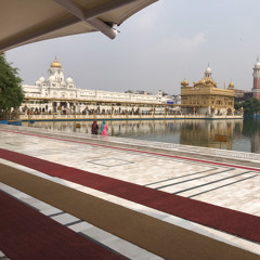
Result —
<instances>
[{"instance_id":1,"label":"long red carpet strip between broad marble floor and brown carpet","mask_svg":"<svg viewBox=\"0 0 260 260\"><path fill-rule=\"evenodd\" d=\"M260 218L0 148L0 158L260 243Z\"/></svg>"}]
</instances>

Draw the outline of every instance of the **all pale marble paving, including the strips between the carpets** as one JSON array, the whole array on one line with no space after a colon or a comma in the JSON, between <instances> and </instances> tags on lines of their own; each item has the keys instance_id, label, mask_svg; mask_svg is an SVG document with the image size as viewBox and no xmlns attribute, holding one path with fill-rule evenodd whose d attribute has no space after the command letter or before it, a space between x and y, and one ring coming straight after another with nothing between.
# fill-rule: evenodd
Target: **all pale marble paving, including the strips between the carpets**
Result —
<instances>
[{"instance_id":1,"label":"all pale marble paving, including the strips between the carpets","mask_svg":"<svg viewBox=\"0 0 260 260\"><path fill-rule=\"evenodd\" d=\"M91 139L90 135L86 135L86 139L81 139L80 142L74 142L64 135L48 138L41 136L41 132L21 134L18 130L15 130L16 132L12 129L11 131L10 129L6 130L0 128L1 148L260 217L260 172L258 171L260 162L259 169L256 167L256 170L244 169L237 167L239 165L238 160L237 166L234 164L232 166L212 165L199 160L188 160L188 158L181 159L178 157L161 156L165 153L164 150L160 151L161 154L145 153L141 150L132 148L120 150L113 142L115 138L109 139L109 136L105 140L106 145L102 145L101 143L86 142L88 139ZM123 143L123 140L119 141ZM131 143L129 140L127 142ZM151 143L142 141L142 145L147 144L147 146L151 146ZM257 243L58 178L46 177L41 172L4 159L0 159L0 162L32 174L52 179L57 183L83 191L115 204L125 205L125 207L132 210L145 212L162 221L193 230L199 234L260 255L260 245ZM130 259L161 259L152 252L108 234L92 224L80 221L74 216L53 208L3 183L0 183L0 190L12 194L26 204L32 205L46 216L75 232L81 232ZM4 255L1 252L0 259L4 259Z\"/></svg>"}]
</instances>

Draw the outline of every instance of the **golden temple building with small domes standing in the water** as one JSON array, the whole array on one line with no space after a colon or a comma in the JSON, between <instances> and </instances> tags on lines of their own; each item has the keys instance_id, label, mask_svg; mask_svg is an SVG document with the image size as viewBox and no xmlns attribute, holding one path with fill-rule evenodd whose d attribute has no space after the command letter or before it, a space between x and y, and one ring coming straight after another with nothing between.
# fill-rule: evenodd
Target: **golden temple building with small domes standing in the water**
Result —
<instances>
[{"instance_id":1,"label":"golden temple building with small domes standing in the water","mask_svg":"<svg viewBox=\"0 0 260 260\"><path fill-rule=\"evenodd\" d=\"M188 86L187 80L181 82L181 104L183 114L232 115L234 113L234 83L227 89L218 89L208 66L205 77Z\"/></svg>"}]
</instances>

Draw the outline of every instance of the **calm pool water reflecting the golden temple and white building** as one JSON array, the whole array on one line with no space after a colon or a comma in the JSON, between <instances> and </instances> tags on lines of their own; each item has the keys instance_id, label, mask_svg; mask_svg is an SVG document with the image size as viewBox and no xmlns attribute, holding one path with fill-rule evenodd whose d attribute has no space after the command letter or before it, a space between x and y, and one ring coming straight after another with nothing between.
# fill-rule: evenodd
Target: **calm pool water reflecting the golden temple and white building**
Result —
<instances>
[{"instance_id":1,"label":"calm pool water reflecting the golden temple and white building","mask_svg":"<svg viewBox=\"0 0 260 260\"><path fill-rule=\"evenodd\" d=\"M99 121L101 125L102 121ZM25 126L62 132L91 133L92 121L24 122ZM260 119L244 120L140 120L107 121L108 135L167 143L259 153ZM216 141L216 134L226 142Z\"/></svg>"}]
</instances>

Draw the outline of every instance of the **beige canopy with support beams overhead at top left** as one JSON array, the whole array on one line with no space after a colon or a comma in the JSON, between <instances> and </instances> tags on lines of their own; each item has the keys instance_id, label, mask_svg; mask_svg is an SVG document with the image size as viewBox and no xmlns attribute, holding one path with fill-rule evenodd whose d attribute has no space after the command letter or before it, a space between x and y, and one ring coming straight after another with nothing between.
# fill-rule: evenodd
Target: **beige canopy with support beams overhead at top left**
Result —
<instances>
[{"instance_id":1,"label":"beige canopy with support beams overhead at top left","mask_svg":"<svg viewBox=\"0 0 260 260\"><path fill-rule=\"evenodd\" d=\"M1 0L0 52L62 36L101 31L110 39L115 26L157 0Z\"/></svg>"}]
</instances>

